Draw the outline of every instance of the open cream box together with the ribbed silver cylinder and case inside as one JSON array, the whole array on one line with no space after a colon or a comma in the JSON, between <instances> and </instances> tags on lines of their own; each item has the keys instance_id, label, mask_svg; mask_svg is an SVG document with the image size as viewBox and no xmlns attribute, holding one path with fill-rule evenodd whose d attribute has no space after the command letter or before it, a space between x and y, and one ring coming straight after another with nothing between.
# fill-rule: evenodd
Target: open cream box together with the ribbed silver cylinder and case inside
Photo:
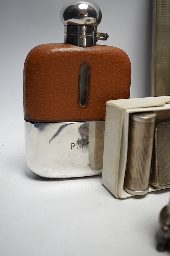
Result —
<instances>
[{"instance_id":1,"label":"open cream box together with the ribbed silver cylinder and case inside","mask_svg":"<svg viewBox=\"0 0 170 256\"><path fill-rule=\"evenodd\" d=\"M102 184L128 198L170 187L170 96L106 103Z\"/></svg>"}]
</instances>

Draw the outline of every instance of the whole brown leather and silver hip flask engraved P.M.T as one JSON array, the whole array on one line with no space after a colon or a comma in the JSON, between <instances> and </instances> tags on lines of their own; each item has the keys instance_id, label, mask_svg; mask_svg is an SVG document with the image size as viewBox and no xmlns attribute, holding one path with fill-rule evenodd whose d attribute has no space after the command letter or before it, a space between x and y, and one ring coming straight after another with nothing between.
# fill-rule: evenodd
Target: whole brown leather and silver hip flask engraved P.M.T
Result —
<instances>
[{"instance_id":1,"label":"whole brown leather and silver hip flask engraved P.M.T","mask_svg":"<svg viewBox=\"0 0 170 256\"><path fill-rule=\"evenodd\" d=\"M131 64L119 48L96 45L101 11L91 1L61 9L64 43L33 48L24 65L26 162L34 174L101 174L106 101L129 98Z\"/></svg>"}]
</instances>

